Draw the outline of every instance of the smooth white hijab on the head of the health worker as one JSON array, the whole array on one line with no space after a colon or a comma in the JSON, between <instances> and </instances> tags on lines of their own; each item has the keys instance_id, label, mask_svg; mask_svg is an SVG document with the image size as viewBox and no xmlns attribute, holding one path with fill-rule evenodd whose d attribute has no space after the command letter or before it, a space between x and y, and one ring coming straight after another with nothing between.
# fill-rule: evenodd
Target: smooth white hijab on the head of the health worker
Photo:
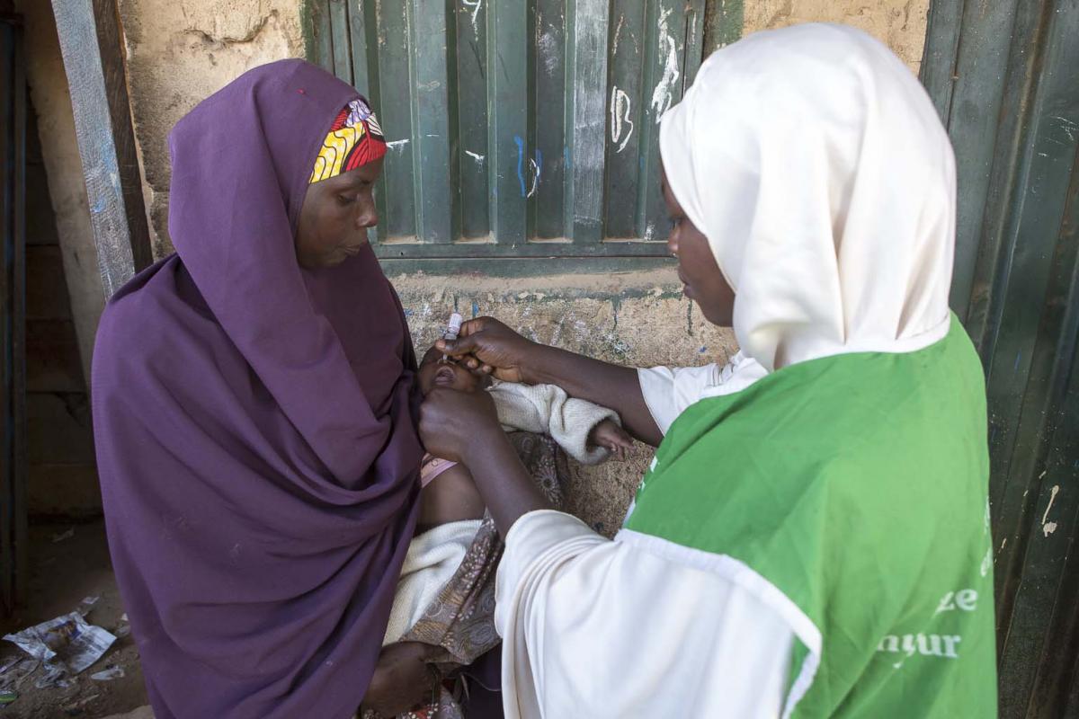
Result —
<instances>
[{"instance_id":1,"label":"smooth white hijab on the head of the health worker","mask_svg":"<svg viewBox=\"0 0 1079 719\"><path fill-rule=\"evenodd\" d=\"M736 292L768 371L947 334L955 160L929 97L853 28L759 32L663 120L667 180Z\"/></svg>"}]
</instances>

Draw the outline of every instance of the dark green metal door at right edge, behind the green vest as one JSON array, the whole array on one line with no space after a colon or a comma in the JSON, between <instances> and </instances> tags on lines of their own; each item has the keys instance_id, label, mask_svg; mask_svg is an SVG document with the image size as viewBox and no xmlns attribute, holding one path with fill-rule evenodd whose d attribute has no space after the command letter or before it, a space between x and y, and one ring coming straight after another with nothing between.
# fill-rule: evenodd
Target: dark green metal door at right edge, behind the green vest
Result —
<instances>
[{"instance_id":1,"label":"dark green metal door at right edge, behind the green vest","mask_svg":"<svg viewBox=\"0 0 1079 719\"><path fill-rule=\"evenodd\" d=\"M1079 716L1079 2L935 0L923 82L988 382L1000 716Z\"/></svg>"}]
</instances>

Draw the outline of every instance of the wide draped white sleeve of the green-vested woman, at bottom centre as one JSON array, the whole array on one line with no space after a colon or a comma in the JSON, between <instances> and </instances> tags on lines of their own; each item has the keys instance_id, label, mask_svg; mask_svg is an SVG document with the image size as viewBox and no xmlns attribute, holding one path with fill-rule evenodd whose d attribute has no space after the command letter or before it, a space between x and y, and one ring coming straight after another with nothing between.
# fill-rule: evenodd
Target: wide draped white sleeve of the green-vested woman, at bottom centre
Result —
<instances>
[{"instance_id":1,"label":"wide draped white sleeve of the green-vested woman, at bottom centre","mask_svg":"<svg viewBox=\"0 0 1079 719\"><path fill-rule=\"evenodd\" d=\"M495 608L506 718L780 716L789 625L719 573L622 538L554 511L510 529Z\"/></svg>"}]
</instances>

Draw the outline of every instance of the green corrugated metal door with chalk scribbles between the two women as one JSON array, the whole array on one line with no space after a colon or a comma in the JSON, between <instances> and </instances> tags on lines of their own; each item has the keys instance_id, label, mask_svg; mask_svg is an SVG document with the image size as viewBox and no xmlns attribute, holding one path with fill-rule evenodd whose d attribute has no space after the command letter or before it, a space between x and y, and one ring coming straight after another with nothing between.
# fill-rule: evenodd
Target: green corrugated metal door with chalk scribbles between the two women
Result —
<instances>
[{"instance_id":1,"label":"green corrugated metal door with chalk scribbles between the two women","mask_svg":"<svg viewBox=\"0 0 1079 719\"><path fill-rule=\"evenodd\" d=\"M388 140L379 257L665 258L659 119L700 66L704 5L312 0L313 59Z\"/></svg>"}]
</instances>

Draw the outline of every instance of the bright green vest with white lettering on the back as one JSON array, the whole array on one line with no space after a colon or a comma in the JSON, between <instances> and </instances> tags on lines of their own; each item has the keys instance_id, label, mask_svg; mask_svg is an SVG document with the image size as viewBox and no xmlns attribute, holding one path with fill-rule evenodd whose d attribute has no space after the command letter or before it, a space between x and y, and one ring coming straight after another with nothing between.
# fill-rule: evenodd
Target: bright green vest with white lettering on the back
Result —
<instances>
[{"instance_id":1,"label":"bright green vest with white lettering on the back","mask_svg":"<svg viewBox=\"0 0 1079 719\"><path fill-rule=\"evenodd\" d=\"M926 349L803 362L692 405L626 528L734 557L811 620L795 717L989 717L987 483L984 378L953 318Z\"/></svg>"}]
</instances>

